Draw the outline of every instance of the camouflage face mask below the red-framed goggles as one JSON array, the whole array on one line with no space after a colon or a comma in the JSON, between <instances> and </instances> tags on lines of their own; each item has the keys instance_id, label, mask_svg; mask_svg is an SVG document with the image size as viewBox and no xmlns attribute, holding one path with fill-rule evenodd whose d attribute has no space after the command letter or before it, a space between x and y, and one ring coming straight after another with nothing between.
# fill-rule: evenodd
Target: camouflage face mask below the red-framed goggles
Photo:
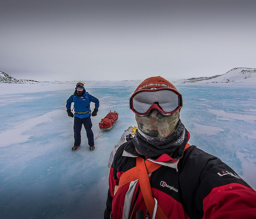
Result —
<instances>
[{"instance_id":1,"label":"camouflage face mask below the red-framed goggles","mask_svg":"<svg viewBox=\"0 0 256 219\"><path fill-rule=\"evenodd\" d=\"M149 115L135 115L139 129L151 137L167 138L171 135L179 121L180 110L171 115L162 115L153 109Z\"/></svg>"}]
</instances>

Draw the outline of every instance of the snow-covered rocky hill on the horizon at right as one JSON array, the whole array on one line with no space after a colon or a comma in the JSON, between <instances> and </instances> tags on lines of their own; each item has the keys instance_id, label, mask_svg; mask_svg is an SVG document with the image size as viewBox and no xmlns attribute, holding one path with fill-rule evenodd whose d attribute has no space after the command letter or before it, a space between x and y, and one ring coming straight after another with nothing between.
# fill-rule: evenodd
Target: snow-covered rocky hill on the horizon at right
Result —
<instances>
[{"instance_id":1,"label":"snow-covered rocky hill on the horizon at right","mask_svg":"<svg viewBox=\"0 0 256 219\"><path fill-rule=\"evenodd\" d=\"M189 78L178 81L180 84L256 84L256 69L252 68L234 68L223 75L212 77Z\"/></svg>"}]
</instances>

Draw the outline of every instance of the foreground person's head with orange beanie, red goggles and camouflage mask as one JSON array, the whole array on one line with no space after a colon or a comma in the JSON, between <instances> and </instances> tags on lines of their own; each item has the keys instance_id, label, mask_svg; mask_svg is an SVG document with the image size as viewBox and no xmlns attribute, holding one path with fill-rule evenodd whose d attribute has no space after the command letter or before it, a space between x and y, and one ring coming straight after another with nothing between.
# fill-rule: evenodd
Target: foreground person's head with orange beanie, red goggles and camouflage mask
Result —
<instances>
[{"instance_id":1,"label":"foreground person's head with orange beanie, red goggles and camouflage mask","mask_svg":"<svg viewBox=\"0 0 256 219\"><path fill-rule=\"evenodd\" d=\"M140 130L150 136L166 138L179 121L182 95L172 83L161 77L156 83L148 80L131 95L130 108Z\"/></svg>"}]
</instances>

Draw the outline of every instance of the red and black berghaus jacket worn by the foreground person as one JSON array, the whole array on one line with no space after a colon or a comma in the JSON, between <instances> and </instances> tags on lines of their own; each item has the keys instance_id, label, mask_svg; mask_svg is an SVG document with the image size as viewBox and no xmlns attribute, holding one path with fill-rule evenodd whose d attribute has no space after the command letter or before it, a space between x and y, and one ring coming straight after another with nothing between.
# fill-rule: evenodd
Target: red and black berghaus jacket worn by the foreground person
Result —
<instances>
[{"instance_id":1,"label":"red and black berghaus jacket worn by the foreground person","mask_svg":"<svg viewBox=\"0 0 256 219\"><path fill-rule=\"evenodd\" d=\"M119 188L113 196L122 173L136 166L136 156L140 154L132 141L122 144L116 152L105 219L110 218L111 211L113 219L123 218L125 211L136 218L137 210L143 210L145 218L139 183L130 197L131 204L125 201L130 184ZM256 192L219 158L191 146L179 161L165 164L168 166L151 174L150 183L153 196L169 218L256 218Z\"/></svg>"}]
</instances>

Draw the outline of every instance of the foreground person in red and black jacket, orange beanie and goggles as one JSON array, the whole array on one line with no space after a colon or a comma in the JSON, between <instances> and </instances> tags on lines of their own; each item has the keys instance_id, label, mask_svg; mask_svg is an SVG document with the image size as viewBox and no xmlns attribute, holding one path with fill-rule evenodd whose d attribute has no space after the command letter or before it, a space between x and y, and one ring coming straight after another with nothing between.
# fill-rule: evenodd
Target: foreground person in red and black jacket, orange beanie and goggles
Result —
<instances>
[{"instance_id":1,"label":"foreground person in red and black jacket, orange beanie and goggles","mask_svg":"<svg viewBox=\"0 0 256 219\"><path fill-rule=\"evenodd\" d=\"M256 192L220 159L188 144L181 107L177 88L160 76L131 95L138 129L113 159L105 219L256 218Z\"/></svg>"}]
</instances>

